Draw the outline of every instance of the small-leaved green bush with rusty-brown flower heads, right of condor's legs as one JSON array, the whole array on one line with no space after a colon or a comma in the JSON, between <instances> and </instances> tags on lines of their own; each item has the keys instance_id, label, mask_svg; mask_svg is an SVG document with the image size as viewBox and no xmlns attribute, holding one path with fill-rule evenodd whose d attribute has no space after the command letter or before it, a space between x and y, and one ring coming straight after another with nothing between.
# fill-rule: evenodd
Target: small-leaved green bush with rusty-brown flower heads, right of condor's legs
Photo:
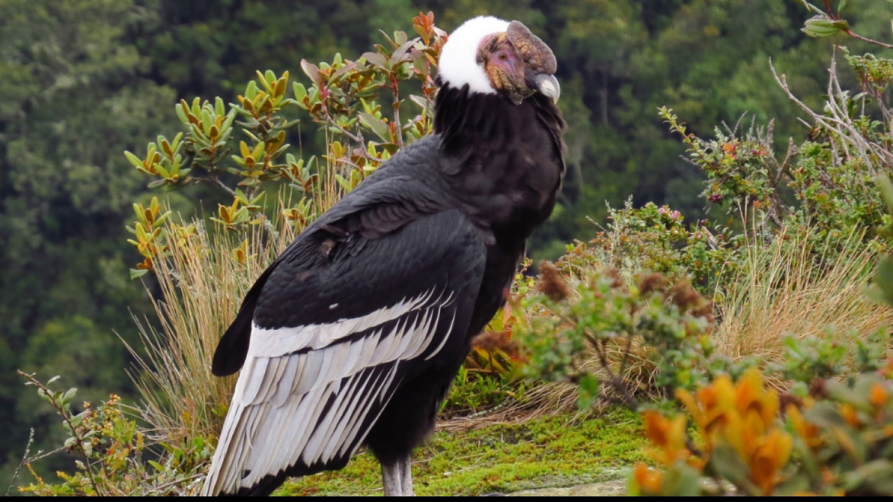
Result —
<instances>
[{"instance_id":1,"label":"small-leaved green bush with rusty-brown flower heads, right of condor's legs","mask_svg":"<svg viewBox=\"0 0 893 502\"><path fill-rule=\"evenodd\" d=\"M522 299L526 319L515 332L527 371L579 384L580 406L601 396L636 409L640 395L692 388L717 364L713 306L686 281L647 273L629 283L613 268L568 280L544 263L536 287ZM608 387L601 393L600 382Z\"/></svg>"}]
</instances>

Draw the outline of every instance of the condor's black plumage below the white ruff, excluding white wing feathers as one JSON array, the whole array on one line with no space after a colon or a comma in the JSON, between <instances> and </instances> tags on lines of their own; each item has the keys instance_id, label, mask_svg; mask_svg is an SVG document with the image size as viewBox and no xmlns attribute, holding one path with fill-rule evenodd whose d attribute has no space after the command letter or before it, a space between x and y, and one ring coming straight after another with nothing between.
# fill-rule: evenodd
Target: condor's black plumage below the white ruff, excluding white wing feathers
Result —
<instances>
[{"instance_id":1,"label":"condor's black plumage below the white ruff, excluding white wing feathers","mask_svg":"<svg viewBox=\"0 0 893 502\"><path fill-rule=\"evenodd\" d=\"M327 397L330 401L320 416L337 406L368 406L358 419L362 433L338 443L336 453L310 461L293 458L251 482L215 481L221 486L214 492L269 494L286 476L343 467L361 444L383 464L393 463L433 430L438 407L472 337L504 304L526 239L552 212L564 172L563 128L561 114L546 96L530 96L514 105L500 94L475 94L467 87L447 85L438 93L435 133L405 147L372 173L263 272L221 339L214 374L236 372L246 363L253 324L265 330L334 325L430 292L432 299L420 310L355 330L331 346L373 336L384 339L386 335L376 333L417 325L426 313L439 316L436 332L421 355L380 362L344 377L343 384L336 382L355 389L357 396L377 393L374 399L351 397L354 401L348 404L338 404L338 394ZM269 383L267 379L275 378L269 374L286 375L292 367L288 364L296 364L289 363L289 357L312 350L303 347L270 357L266 373L245 370L263 376L255 385L258 396L266 392L266 399L275 401L280 392L288 392L282 383ZM250 401L255 388L246 388L246 409L268 406L261 397L255 398L257 404ZM263 423L266 409L238 427ZM312 426L338 431L333 424Z\"/></svg>"}]
</instances>

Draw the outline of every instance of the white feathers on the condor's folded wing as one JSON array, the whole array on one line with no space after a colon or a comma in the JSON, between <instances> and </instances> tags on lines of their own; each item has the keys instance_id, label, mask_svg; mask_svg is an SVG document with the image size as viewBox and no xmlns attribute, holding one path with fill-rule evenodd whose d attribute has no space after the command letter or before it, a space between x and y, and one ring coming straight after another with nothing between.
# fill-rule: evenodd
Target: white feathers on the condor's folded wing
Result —
<instances>
[{"instance_id":1,"label":"white feathers on the condor's folded wing","mask_svg":"<svg viewBox=\"0 0 893 502\"><path fill-rule=\"evenodd\" d=\"M373 409L380 413L399 383L397 363L426 351L430 358L444 347L447 337L432 345L441 322L452 327L454 316L441 315L452 303L452 295L436 297L431 289L330 324L273 330L254 325L202 494L249 488L298 462L324 464L353 455L368 433L363 423ZM386 322L394 323L385 329Z\"/></svg>"}]
</instances>

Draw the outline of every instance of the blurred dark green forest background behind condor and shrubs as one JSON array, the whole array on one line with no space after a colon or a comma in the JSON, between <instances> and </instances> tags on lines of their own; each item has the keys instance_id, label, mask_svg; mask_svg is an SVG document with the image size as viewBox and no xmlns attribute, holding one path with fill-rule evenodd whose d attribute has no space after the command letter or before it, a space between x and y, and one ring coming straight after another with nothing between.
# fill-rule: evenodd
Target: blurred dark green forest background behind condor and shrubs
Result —
<instances>
[{"instance_id":1,"label":"blurred dark green forest background behind condor and shrubs","mask_svg":"<svg viewBox=\"0 0 893 502\"><path fill-rule=\"evenodd\" d=\"M893 4L854 4L860 33L889 40ZM770 60L816 107L840 41L807 39L798 0L0 0L0 479L19 464L29 428L32 455L63 436L15 370L60 374L79 399L133 394L122 340L136 344L134 316L152 318L153 286L129 280L141 259L125 225L132 202L162 194L123 152L179 130L180 98L233 102L256 70L306 82L302 59L355 59L383 41L380 30L413 34L420 11L447 31L472 15L516 19L555 50L569 174L531 245L544 257L591 238L607 205L630 197L705 217L701 173L680 158L658 106L703 136L775 119L783 149L808 130ZM308 123L289 142L318 153L315 130ZM213 211L221 195L184 190L163 196L186 215Z\"/></svg>"}]
</instances>

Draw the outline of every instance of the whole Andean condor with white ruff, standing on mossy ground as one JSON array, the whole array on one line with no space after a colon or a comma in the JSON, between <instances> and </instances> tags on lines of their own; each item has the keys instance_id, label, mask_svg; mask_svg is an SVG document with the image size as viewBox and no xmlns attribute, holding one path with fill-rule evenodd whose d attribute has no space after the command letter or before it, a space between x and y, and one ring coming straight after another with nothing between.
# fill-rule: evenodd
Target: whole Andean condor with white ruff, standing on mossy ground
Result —
<instances>
[{"instance_id":1,"label":"whole Andean condor with white ruff, standing on mossy ground","mask_svg":"<svg viewBox=\"0 0 893 502\"><path fill-rule=\"evenodd\" d=\"M308 226L224 333L213 373L242 372L203 495L268 495L344 467L361 445L385 495L413 495L411 452L555 205L554 73L518 21L455 29L434 133Z\"/></svg>"}]
</instances>

